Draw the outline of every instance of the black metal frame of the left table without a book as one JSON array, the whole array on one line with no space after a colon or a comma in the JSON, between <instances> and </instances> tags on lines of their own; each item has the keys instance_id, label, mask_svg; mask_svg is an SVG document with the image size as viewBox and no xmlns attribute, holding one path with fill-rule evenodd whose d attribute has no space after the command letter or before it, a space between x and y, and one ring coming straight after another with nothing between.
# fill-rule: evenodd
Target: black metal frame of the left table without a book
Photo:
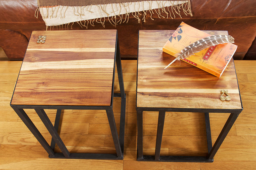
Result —
<instances>
[{"instance_id":1,"label":"black metal frame of the left table without a book","mask_svg":"<svg viewBox=\"0 0 256 170\"><path fill-rule=\"evenodd\" d=\"M117 67L118 81L120 87L120 93L114 93L114 81L115 81L115 65ZM113 113L113 98L121 97L121 113L120 113L120 130L119 136L116 128L116 122ZM125 101L126 95L124 92L124 81L121 65L121 56L118 43L118 37L116 33L116 51L115 62L113 70L113 82L112 82L112 96L110 106L53 106L53 105L11 105L13 110L18 114L20 119L26 124L28 129L33 133L39 143L44 147L49 154L49 158L65 158L65 159L120 159L124 158L124 124L125 124ZM38 131L36 126L30 120L28 115L23 109L34 109L37 115L40 117L45 127L52 136L51 145L47 143L42 134ZM56 109L56 118L54 125L51 123L49 117L46 115L44 109ZM61 110L106 110L108 123L112 133L114 145L116 148L116 154L109 153L70 153L58 134L59 122ZM55 143L59 146L61 152L54 152Z\"/></svg>"}]
</instances>

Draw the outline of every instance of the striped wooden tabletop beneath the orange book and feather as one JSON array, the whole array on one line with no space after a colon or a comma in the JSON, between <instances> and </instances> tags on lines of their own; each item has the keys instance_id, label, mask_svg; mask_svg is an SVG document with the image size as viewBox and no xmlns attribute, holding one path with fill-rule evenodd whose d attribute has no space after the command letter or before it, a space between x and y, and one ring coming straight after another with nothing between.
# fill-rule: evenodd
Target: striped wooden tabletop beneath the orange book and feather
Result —
<instances>
[{"instance_id":1,"label":"striped wooden tabletop beneath the orange book and feather","mask_svg":"<svg viewBox=\"0 0 256 170\"><path fill-rule=\"evenodd\" d=\"M173 32L139 32L136 106L242 109L233 59L220 78L181 60L164 69L174 59L162 51L162 47ZM220 100L222 89L228 90L230 101Z\"/></svg>"}]
</instances>

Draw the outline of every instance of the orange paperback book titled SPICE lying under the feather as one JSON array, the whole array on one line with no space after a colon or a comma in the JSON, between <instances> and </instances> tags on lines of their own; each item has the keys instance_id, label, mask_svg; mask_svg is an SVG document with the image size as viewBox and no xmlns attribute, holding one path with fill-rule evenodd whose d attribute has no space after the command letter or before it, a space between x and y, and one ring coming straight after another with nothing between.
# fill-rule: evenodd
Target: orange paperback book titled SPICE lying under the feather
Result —
<instances>
[{"instance_id":1,"label":"orange paperback book titled SPICE lying under the feather","mask_svg":"<svg viewBox=\"0 0 256 170\"><path fill-rule=\"evenodd\" d=\"M181 22L163 46L163 52L173 56L191 43L208 36L211 35ZM236 48L237 46L232 43L219 44L180 60L220 77L236 52Z\"/></svg>"}]
</instances>

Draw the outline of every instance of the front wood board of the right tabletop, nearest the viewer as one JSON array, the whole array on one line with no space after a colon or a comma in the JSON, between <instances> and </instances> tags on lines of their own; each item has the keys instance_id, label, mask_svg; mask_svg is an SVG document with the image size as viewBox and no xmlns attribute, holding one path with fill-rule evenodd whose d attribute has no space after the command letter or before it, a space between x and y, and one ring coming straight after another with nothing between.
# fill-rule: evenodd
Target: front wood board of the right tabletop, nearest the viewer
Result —
<instances>
[{"instance_id":1,"label":"front wood board of the right tabletop, nearest the viewer","mask_svg":"<svg viewBox=\"0 0 256 170\"><path fill-rule=\"evenodd\" d=\"M239 94L230 94L231 101L221 101L216 93L137 93L137 107L161 105L165 108L241 109Z\"/></svg>"}]
</instances>

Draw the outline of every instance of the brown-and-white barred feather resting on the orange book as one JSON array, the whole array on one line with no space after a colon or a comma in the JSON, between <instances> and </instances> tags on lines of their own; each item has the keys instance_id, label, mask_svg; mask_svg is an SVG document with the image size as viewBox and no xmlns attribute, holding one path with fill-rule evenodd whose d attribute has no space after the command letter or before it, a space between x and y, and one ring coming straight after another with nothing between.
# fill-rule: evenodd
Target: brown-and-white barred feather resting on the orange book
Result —
<instances>
[{"instance_id":1,"label":"brown-and-white barred feather resting on the orange book","mask_svg":"<svg viewBox=\"0 0 256 170\"><path fill-rule=\"evenodd\" d=\"M224 43L234 43L234 38L230 35L213 35L205 37L203 39L199 39L198 41L190 44L189 46L186 46L184 49L180 51L180 53L176 53L174 55L174 57L176 58L172 60L172 62L168 64L165 68L169 67L176 60L185 59L193 55L194 53L202 51L205 48Z\"/></svg>"}]
</instances>

